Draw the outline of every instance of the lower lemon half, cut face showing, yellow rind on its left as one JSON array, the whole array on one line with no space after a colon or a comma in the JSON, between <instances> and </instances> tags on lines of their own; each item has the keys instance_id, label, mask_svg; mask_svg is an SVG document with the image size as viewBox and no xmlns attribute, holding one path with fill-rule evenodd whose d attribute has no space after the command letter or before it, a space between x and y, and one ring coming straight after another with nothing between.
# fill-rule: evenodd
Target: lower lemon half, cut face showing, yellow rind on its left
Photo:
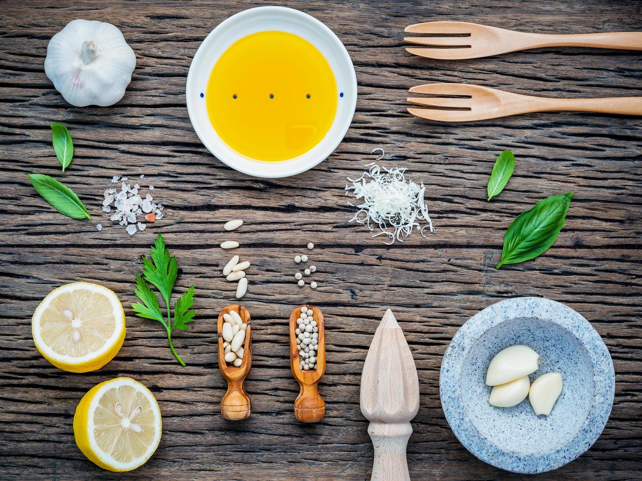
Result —
<instances>
[{"instance_id":1,"label":"lower lemon half, cut face showing, yellow rind on its left","mask_svg":"<svg viewBox=\"0 0 642 481\"><path fill-rule=\"evenodd\" d=\"M92 387L74 414L78 448L109 471L131 471L144 464L158 447L161 432L156 398L132 378Z\"/></svg>"}]
</instances>

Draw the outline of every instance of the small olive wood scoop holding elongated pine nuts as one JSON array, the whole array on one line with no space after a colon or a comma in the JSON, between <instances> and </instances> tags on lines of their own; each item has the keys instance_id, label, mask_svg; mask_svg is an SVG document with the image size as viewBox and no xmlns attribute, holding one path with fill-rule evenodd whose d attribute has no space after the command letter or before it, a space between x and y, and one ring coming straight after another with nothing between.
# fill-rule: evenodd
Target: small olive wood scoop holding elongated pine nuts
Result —
<instances>
[{"instance_id":1,"label":"small olive wood scoop holding elongated pine nuts","mask_svg":"<svg viewBox=\"0 0 642 481\"><path fill-rule=\"evenodd\" d=\"M245 329L245 344L243 344L243 361L241 366L230 366L225 362L225 349L223 348L223 314L229 314L230 311L236 311L244 323L247 323ZM250 372L252 366L252 326L250 325L250 312L243 306L233 304L221 310L218 315L217 332L218 332L218 367L221 374L227 380L227 392L221 399L221 414L223 418L230 421L239 421L250 417L250 396L243 389L243 382Z\"/></svg>"}]
</instances>

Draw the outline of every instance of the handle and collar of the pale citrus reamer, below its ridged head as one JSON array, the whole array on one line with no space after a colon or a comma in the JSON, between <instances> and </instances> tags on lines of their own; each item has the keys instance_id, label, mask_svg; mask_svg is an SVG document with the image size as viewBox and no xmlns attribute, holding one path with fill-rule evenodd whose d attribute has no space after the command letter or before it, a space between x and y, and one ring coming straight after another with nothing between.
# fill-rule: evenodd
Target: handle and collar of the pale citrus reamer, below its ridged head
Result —
<instances>
[{"instance_id":1,"label":"handle and collar of the pale citrus reamer, below its ridged head","mask_svg":"<svg viewBox=\"0 0 642 481\"><path fill-rule=\"evenodd\" d=\"M410 423L370 423L368 434L374 446L371 480L410 481L406 446L412 434Z\"/></svg>"}]
</instances>

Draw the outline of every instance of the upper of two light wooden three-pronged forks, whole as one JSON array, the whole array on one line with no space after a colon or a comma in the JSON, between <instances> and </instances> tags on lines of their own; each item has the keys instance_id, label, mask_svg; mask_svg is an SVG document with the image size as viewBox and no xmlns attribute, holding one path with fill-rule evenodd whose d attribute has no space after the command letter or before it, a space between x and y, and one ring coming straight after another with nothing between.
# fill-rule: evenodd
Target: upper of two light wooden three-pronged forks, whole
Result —
<instances>
[{"instance_id":1,"label":"upper of two light wooden three-pronged forks, whole","mask_svg":"<svg viewBox=\"0 0 642 481\"><path fill-rule=\"evenodd\" d=\"M505 30L469 22L425 22L406 27L410 33L425 33L427 37L405 37L406 42L424 48L406 51L426 58L461 60L480 58L518 50L540 47L599 47L623 50L642 50L642 32L579 33L550 35ZM435 35L440 35L435 37ZM442 37L441 35L451 35Z\"/></svg>"}]
</instances>

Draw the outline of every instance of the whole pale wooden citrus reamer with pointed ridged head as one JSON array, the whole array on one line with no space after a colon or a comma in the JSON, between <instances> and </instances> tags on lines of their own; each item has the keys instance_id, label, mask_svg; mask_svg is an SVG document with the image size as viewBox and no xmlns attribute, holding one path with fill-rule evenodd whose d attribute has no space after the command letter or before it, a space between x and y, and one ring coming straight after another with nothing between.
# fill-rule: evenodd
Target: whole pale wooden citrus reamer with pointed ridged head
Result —
<instances>
[{"instance_id":1,"label":"whole pale wooden citrus reamer with pointed ridged head","mask_svg":"<svg viewBox=\"0 0 642 481\"><path fill-rule=\"evenodd\" d=\"M372 480L410 480L406 444L419 410L415 361L392 310L374 333L361 373L361 412L374 445Z\"/></svg>"}]
</instances>

